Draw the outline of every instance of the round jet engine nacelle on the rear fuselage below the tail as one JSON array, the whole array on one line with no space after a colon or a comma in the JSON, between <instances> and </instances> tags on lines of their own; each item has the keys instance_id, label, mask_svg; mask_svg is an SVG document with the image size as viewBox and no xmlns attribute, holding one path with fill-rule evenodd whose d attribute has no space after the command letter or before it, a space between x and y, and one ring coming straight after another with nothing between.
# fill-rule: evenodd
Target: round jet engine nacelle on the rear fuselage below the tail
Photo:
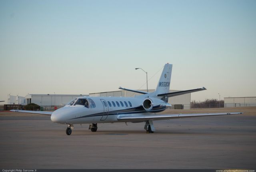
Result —
<instances>
[{"instance_id":1,"label":"round jet engine nacelle on the rear fuselage below the tail","mask_svg":"<svg viewBox=\"0 0 256 172\"><path fill-rule=\"evenodd\" d=\"M166 107L166 102L157 98L146 98L143 101L142 106L146 111L153 111L153 110L164 109Z\"/></svg>"}]
</instances>

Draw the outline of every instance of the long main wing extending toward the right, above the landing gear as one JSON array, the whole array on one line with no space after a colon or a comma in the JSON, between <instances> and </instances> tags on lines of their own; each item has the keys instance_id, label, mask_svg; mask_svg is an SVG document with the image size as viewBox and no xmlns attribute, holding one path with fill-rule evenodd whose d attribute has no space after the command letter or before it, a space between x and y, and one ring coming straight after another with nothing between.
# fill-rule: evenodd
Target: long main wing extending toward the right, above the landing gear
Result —
<instances>
[{"instance_id":1,"label":"long main wing extending toward the right, above the landing gear","mask_svg":"<svg viewBox=\"0 0 256 172\"><path fill-rule=\"evenodd\" d=\"M214 115L234 115L242 114L242 112L230 112L230 113L192 113L192 114L171 114L171 115L141 115L141 116L122 116L117 117L118 121L150 121L150 120L162 120L162 119L176 119L186 117L203 117Z\"/></svg>"}]
</instances>

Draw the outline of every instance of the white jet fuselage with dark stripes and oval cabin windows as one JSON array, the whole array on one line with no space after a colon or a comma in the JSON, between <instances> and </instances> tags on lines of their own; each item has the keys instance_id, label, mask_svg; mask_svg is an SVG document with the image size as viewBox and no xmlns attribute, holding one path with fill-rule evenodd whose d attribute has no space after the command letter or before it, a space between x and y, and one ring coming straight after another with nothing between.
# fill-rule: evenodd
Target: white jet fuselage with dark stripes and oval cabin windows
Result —
<instances>
[{"instance_id":1,"label":"white jet fuselage with dark stripes and oval cabin windows","mask_svg":"<svg viewBox=\"0 0 256 172\"><path fill-rule=\"evenodd\" d=\"M120 122L117 120L120 115L149 115L166 109L166 102L158 99L156 106L152 104L152 109L146 110L142 105L144 100L142 97L78 97L54 111L51 120L61 124L115 123Z\"/></svg>"}]
</instances>

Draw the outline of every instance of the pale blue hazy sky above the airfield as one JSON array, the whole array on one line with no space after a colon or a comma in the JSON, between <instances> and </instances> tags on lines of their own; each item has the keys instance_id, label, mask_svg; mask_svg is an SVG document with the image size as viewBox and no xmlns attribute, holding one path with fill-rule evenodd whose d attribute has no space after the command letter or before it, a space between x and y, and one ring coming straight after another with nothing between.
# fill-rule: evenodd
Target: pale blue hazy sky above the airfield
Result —
<instances>
[{"instance_id":1,"label":"pale blue hazy sky above the airfield","mask_svg":"<svg viewBox=\"0 0 256 172\"><path fill-rule=\"evenodd\" d=\"M0 0L1 100L146 89L137 67L155 89L165 63L192 100L256 96L256 1Z\"/></svg>"}]
</instances>

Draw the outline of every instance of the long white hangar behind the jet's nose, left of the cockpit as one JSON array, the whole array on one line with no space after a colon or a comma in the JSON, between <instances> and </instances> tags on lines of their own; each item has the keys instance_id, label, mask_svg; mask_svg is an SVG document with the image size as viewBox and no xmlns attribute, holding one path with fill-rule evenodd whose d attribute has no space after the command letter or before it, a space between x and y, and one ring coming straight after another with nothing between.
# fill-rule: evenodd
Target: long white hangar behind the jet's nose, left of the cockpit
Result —
<instances>
[{"instance_id":1,"label":"long white hangar behind the jet's nose, left of the cockpit","mask_svg":"<svg viewBox=\"0 0 256 172\"><path fill-rule=\"evenodd\" d=\"M64 106L71 100L88 96L82 94L28 94L26 95L26 104L34 103L39 106Z\"/></svg>"}]
</instances>

